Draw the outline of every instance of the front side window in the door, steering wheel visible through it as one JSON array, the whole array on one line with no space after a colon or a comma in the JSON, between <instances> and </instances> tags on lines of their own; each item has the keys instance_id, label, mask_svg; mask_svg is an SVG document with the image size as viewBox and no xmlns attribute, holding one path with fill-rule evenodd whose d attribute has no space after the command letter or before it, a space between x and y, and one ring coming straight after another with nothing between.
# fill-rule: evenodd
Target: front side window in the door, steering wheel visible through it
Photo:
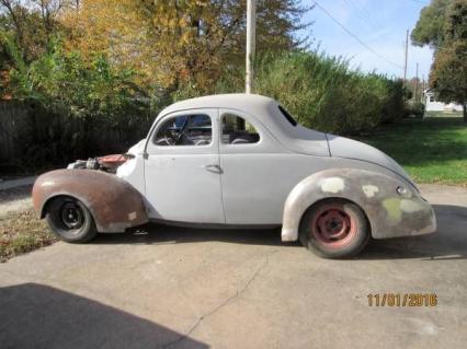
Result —
<instances>
[{"instance_id":1,"label":"front side window in the door, steering wheel visible through it","mask_svg":"<svg viewBox=\"0 0 467 349\"><path fill-rule=\"evenodd\" d=\"M156 146L208 146L213 140L210 117L205 114L168 118L156 132Z\"/></svg>"}]
</instances>

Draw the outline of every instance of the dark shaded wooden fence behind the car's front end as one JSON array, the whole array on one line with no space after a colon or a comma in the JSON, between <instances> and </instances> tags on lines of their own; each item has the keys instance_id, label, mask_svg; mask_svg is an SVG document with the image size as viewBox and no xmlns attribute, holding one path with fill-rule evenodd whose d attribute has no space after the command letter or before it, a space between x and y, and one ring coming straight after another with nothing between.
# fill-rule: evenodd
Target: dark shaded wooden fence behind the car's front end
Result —
<instances>
[{"instance_id":1,"label":"dark shaded wooden fence behind the car's front end","mask_svg":"<svg viewBox=\"0 0 467 349\"><path fill-rule=\"evenodd\" d=\"M66 132L68 138L60 139L61 147L66 146L66 155L96 156L114 152L123 152L129 146L146 137L148 125L135 125L133 127L110 127L101 123L91 129L86 129L83 120L69 119L49 115L41 107L18 101L0 101L0 164L18 162L26 156L34 158L34 146L41 144L41 151L46 148L46 153L57 154L54 147L60 144L57 138L59 132ZM73 136L86 135L86 144L72 144ZM71 141L65 141L70 139ZM29 149L25 149L29 144ZM58 146L59 147L59 146ZM79 150L79 151L78 151ZM16 161L13 161L16 160ZM47 159L57 162L58 159ZM62 161L64 159L60 159ZM69 159L75 160L75 159Z\"/></svg>"}]
</instances>

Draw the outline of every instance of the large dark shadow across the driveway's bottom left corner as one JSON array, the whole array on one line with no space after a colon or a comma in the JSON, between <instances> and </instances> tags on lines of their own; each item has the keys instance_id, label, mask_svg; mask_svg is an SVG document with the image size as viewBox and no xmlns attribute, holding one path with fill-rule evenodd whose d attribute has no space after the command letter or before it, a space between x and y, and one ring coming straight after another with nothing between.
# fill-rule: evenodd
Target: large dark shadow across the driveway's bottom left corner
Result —
<instances>
[{"instance_id":1,"label":"large dark shadow across the driveway's bottom left corner","mask_svg":"<svg viewBox=\"0 0 467 349\"><path fill-rule=\"evenodd\" d=\"M207 345L144 318L37 283L0 288L1 348L186 348Z\"/></svg>"}]
</instances>

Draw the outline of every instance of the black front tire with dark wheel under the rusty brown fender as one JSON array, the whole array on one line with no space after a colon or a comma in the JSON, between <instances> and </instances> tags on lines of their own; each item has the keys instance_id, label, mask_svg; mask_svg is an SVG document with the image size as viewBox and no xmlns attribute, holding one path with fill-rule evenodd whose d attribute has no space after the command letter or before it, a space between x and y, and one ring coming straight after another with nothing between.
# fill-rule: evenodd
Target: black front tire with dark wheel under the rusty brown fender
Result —
<instances>
[{"instance_id":1,"label":"black front tire with dark wheel under the rusty brown fender","mask_svg":"<svg viewBox=\"0 0 467 349\"><path fill-rule=\"evenodd\" d=\"M86 243L98 233L89 209L69 196L52 199L46 206L45 219L53 233L67 243Z\"/></svg>"}]
</instances>

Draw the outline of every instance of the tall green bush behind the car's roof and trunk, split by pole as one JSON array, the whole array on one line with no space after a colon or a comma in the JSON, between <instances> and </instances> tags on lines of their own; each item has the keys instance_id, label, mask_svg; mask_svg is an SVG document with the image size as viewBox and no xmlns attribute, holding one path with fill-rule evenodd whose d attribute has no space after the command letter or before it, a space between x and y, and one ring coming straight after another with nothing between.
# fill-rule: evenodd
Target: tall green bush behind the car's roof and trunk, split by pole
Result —
<instances>
[{"instance_id":1,"label":"tall green bush behind the car's roof and trunk, split by pole","mask_svg":"<svg viewBox=\"0 0 467 349\"><path fill-rule=\"evenodd\" d=\"M305 126L352 133L403 115L402 83L351 70L348 61L294 51L257 63L255 93L280 101ZM216 92L243 90L241 71L228 71Z\"/></svg>"}]
</instances>

